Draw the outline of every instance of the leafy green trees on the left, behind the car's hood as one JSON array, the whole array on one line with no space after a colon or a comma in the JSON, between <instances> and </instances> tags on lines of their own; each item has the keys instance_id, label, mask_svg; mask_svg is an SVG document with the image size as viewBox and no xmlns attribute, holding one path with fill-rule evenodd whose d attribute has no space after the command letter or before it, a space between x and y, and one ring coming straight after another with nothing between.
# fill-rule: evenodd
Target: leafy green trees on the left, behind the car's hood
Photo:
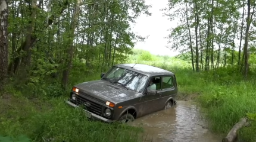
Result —
<instances>
[{"instance_id":1,"label":"leafy green trees on the left, behind the car's hood","mask_svg":"<svg viewBox=\"0 0 256 142\"><path fill-rule=\"evenodd\" d=\"M130 22L151 15L144 1L33 3L8 5L8 71L14 86L42 96L60 86L67 89L74 70L88 75L127 60L134 41L146 38L133 33ZM61 96L63 91L53 93Z\"/></svg>"}]
</instances>

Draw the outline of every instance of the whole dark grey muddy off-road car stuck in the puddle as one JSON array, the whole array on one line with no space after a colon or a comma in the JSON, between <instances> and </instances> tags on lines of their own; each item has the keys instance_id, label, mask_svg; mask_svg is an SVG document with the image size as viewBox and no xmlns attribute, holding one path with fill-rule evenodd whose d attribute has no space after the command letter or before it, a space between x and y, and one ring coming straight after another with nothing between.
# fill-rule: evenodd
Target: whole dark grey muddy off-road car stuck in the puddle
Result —
<instances>
[{"instance_id":1,"label":"whole dark grey muddy off-road car stuck in the puddle","mask_svg":"<svg viewBox=\"0 0 256 142\"><path fill-rule=\"evenodd\" d=\"M149 83L155 89L148 89ZM83 106L89 118L133 121L175 104L174 73L146 64L116 64L100 80L73 86L67 104Z\"/></svg>"}]
</instances>

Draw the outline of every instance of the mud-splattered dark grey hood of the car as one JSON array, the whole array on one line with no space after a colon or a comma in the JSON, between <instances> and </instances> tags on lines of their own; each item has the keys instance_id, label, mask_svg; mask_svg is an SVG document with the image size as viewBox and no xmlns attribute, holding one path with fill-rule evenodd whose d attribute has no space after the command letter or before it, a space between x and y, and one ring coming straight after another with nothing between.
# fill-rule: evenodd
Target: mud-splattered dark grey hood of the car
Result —
<instances>
[{"instance_id":1,"label":"mud-splattered dark grey hood of the car","mask_svg":"<svg viewBox=\"0 0 256 142\"><path fill-rule=\"evenodd\" d=\"M79 88L79 90L82 89L82 91L88 93L88 95L92 95L102 101L111 101L113 103L142 96L141 93L129 89L127 90L120 85L113 85L106 80L84 82L76 85L76 87Z\"/></svg>"}]
</instances>

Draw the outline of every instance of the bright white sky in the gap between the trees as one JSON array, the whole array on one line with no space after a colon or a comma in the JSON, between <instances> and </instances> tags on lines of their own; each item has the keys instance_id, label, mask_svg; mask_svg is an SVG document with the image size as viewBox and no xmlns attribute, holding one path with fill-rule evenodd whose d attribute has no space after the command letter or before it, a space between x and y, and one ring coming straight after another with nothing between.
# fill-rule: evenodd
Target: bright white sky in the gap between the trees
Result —
<instances>
[{"instance_id":1,"label":"bright white sky in the gap between the trees","mask_svg":"<svg viewBox=\"0 0 256 142\"><path fill-rule=\"evenodd\" d=\"M146 4L152 5L152 8L149 9L149 12L152 13L151 17L141 15L136 20L136 25L132 26L132 30L139 35L149 35L149 37L145 42L136 43L135 49L147 50L151 54L176 56L179 52L167 49L168 40L164 39L170 33L167 30L177 26L176 21L171 22L167 17L163 17L163 11L160 11L161 8L167 7L168 1L146 0Z\"/></svg>"}]
</instances>

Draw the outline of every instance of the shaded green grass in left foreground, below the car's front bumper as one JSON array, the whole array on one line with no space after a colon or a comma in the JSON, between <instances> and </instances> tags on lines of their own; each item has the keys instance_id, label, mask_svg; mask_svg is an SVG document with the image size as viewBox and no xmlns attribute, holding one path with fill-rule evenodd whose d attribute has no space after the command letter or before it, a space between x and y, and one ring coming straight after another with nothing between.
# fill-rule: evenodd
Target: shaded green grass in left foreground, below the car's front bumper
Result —
<instances>
[{"instance_id":1,"label":"shaded green grass in left foreground, below the car's front bumper","mask_svg":"<svg viewBox=\"0 0 256 142\"><path fill-rule=\"evenodd\" d=\"M64 104L64 99L45 102L49 107L43 112L30 102L9 109L8 114L1 115L0 134L8 137L26 135L32 141L139 141L139 128L90 121L82 110Z\"/></svg>"}]
</instances>

